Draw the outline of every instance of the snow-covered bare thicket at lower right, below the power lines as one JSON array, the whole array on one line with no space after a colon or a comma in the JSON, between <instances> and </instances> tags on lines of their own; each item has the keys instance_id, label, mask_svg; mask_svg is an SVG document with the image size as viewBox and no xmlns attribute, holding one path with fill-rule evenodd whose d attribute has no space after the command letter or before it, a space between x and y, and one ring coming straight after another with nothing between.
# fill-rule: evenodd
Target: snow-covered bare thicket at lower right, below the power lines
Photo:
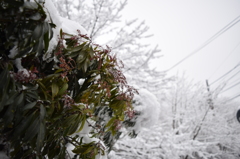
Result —
<instances>
[{"instance_id":1,"label":"snow-covered bare thicket at lower right, below the power lines","mask_svg":"<svg viewBox=\"0 0 240 159\"><path fill-rule=\"evenodd\" d=\"M239 103L224 104L226 99L212 92L211 105L206 86L184 77L169 87L156 124L142 129L135 140L120 139L110 158L238 158Z\"/></svg>"}]
</instances>

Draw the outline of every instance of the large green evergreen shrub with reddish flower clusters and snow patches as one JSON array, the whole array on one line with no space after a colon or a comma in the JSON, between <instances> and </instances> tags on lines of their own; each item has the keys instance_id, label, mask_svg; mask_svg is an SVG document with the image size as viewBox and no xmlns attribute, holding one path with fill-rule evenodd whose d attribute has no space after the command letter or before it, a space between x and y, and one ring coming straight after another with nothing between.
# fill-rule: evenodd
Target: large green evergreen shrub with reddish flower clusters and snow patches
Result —
<instances>
[{"instance_id":1,"label":"large green evergreen shrub with reddish flower clusters and snow patches","mask_svg":"<svg viewBox=\"0 0 240 159\"><path fill-rule=\"evenodd\" d=\"M123 130L134 135L128 127L137 91L109 47L61 18L50 0L2 0L0 21L0 144L7 156L101 158Z\"/></svg>"}]
</instances>

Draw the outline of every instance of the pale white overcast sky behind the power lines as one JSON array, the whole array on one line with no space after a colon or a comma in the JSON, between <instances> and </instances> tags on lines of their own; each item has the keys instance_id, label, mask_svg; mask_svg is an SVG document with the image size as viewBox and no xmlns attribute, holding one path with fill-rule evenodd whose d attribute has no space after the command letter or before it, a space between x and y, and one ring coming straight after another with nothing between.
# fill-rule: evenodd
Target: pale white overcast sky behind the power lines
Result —
<instances>
[{"instance_id":1,"label":"pale white overcast sky behind the power lines","mask_svg":"<svg viewBox=\"0 0 240 159\"><path fill-rule=\"evenodd\" d=\"M164 55L153 63L159 70L166 70L239 16L240 0L129 0L123 13L126 19L145 20L150 27L149 32L154 34L150 43L158 44ZM211 83L239 62L240 22L169 74L185 71L190 79L202 82L208 79ZM238 70L240 66L233 74ZM225 88L237 82L240 82L240 73ZM240 94L240 84L224 94L230 97Z\"/></svg>"}]
</instances>

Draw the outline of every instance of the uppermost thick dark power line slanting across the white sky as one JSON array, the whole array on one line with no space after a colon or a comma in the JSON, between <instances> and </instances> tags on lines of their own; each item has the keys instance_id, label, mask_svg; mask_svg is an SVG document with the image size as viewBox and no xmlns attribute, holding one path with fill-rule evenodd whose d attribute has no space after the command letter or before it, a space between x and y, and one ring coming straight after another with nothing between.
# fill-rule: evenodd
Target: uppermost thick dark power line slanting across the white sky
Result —
<instances>
[{"instance_id":1,"label":"uppermost thick dark power line slanting across the white sky","mask_svg":"<svg viewBox=\"0 0 240 159\"><path fill-rule=\"evenodd\" d=\"M206 47L207 45L209 45L213 40L215 40L217 37L219 37L220 35L222 35L223 33L225 33L227 30L229 30L230 28L232 28L234 25L236 25L238 22L240 22L239 19L240 15L237 16L234 20L232 20L230 23L228 23L225 27L223 27L221 30L219 30L216 34L214 34L211 38L209 38L206 42L204 42L198 49L196 49L195 51L193 51L192 53L188 54L186 57L184 57L182 60L180 60L179 62L177 62L175 65L173 65L172 67L170 67L168 70L166 71L170 71L171 69L175 68L176 66L178 66L180 63L182 63L183 61L185 61L186 59L188 59L189 57L191 57L192 55L196 54L197 52L199 52L200 50L202 50L204 47ZM236 21L237 20L237 21ZM235 22L234 22L235 21Z\"/></svg>"}]
</instances>

